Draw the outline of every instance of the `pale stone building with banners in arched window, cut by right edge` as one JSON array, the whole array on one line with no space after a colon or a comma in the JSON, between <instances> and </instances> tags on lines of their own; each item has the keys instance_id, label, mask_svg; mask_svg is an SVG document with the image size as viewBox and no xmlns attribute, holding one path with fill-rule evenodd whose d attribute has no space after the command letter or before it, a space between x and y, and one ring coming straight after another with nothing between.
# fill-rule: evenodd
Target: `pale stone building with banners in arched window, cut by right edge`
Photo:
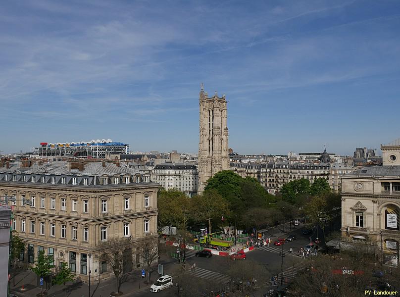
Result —
<instances>
[{"instance_id":1,"label":"pale stone building with banners in arched window, cut by right edge","mask_svg":"<svg viewBox=\"0 0 400 297\"><path fill-rule=\"evenodd\" d=\"M381 145L382 166L342 176L342 237L373 243L386 263L398 265L400 141Z\"/></svg>"}]
</instances>

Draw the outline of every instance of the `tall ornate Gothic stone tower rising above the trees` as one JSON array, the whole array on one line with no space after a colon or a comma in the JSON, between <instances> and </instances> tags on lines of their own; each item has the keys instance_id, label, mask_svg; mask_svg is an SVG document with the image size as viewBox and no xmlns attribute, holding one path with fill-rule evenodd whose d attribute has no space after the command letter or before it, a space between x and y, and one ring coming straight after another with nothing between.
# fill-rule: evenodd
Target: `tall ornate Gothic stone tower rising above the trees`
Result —
<instances>
[{"instance_id":1,"label":"tall ornate Gothic stone tower rising above the trees","mask_svg":"<svg viewBox=\"0 0 400 297\"><path fill-rule=\"evenodd\" d=\"M199 190L221 170L229 169L227 108L225 95L208 97L203 84L200 90Z\"/></svg>"}]
</instances>

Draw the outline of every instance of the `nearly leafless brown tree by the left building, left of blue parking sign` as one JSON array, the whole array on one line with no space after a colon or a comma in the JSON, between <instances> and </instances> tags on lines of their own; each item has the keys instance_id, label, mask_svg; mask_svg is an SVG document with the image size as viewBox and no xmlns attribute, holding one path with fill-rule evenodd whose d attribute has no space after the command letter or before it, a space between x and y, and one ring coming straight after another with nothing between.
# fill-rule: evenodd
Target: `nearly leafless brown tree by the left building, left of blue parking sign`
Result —
<instances>
[{"instance_id":1,"label":"nearly leafless brown tree by the left building, left of blue parking sign","mask_svg":"<svg viewBox=\"0 0 400 297\"><path fill-rule=\"evenodd\" d=\"M96 257L100 261L107 261L115 275L115 293L119 292L120 276L123 274L124 250L133 246L129 237L112 238L100 242L100 254Z\"/></svg>"}]
</instances>

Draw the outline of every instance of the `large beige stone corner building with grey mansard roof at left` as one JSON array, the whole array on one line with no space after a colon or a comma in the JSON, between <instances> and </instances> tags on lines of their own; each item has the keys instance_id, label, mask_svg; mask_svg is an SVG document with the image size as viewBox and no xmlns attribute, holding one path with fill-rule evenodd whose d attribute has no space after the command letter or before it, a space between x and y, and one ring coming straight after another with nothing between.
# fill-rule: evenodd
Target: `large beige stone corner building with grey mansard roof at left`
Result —
<instances>
[{"instance_id":1,"label":"large beige stone corner building with grey mansard roof at left","mask_svg":"<svg viewBox=\"0 0 400 297\"><path fill-rule=\"evenodd\" d=\"M100 262L100 242L129 237L134 245L124 271L140 267L141 241L157 237L157 189L150 175L114 163L52 162L28 168L0 168L0 195L31 200L13 204L12 228L26 243L23 259L32 263L38 252L67 262L76 276L97 282L112 276ZM88 255L93 256L89 259Z\"/></svg>"}]
</instances>

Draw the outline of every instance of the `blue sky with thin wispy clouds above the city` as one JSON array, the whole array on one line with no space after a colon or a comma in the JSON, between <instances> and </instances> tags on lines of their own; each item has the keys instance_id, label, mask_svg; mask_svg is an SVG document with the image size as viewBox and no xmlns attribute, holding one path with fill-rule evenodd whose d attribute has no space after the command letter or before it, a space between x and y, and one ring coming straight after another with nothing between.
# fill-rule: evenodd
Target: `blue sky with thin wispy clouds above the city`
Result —
<instances>
[{"instance_id":1,"label":"blue sky with thin wispy clouds above the city","mask_svg":"<svg viewBox=\"0 0 400 297\"><path fill-rule=\"evenodd\" d=\"M400 138L400 1L4 0L0 151L112 139L196 153L200 84L239 153Z\"/></svg>"}]
</instances>

